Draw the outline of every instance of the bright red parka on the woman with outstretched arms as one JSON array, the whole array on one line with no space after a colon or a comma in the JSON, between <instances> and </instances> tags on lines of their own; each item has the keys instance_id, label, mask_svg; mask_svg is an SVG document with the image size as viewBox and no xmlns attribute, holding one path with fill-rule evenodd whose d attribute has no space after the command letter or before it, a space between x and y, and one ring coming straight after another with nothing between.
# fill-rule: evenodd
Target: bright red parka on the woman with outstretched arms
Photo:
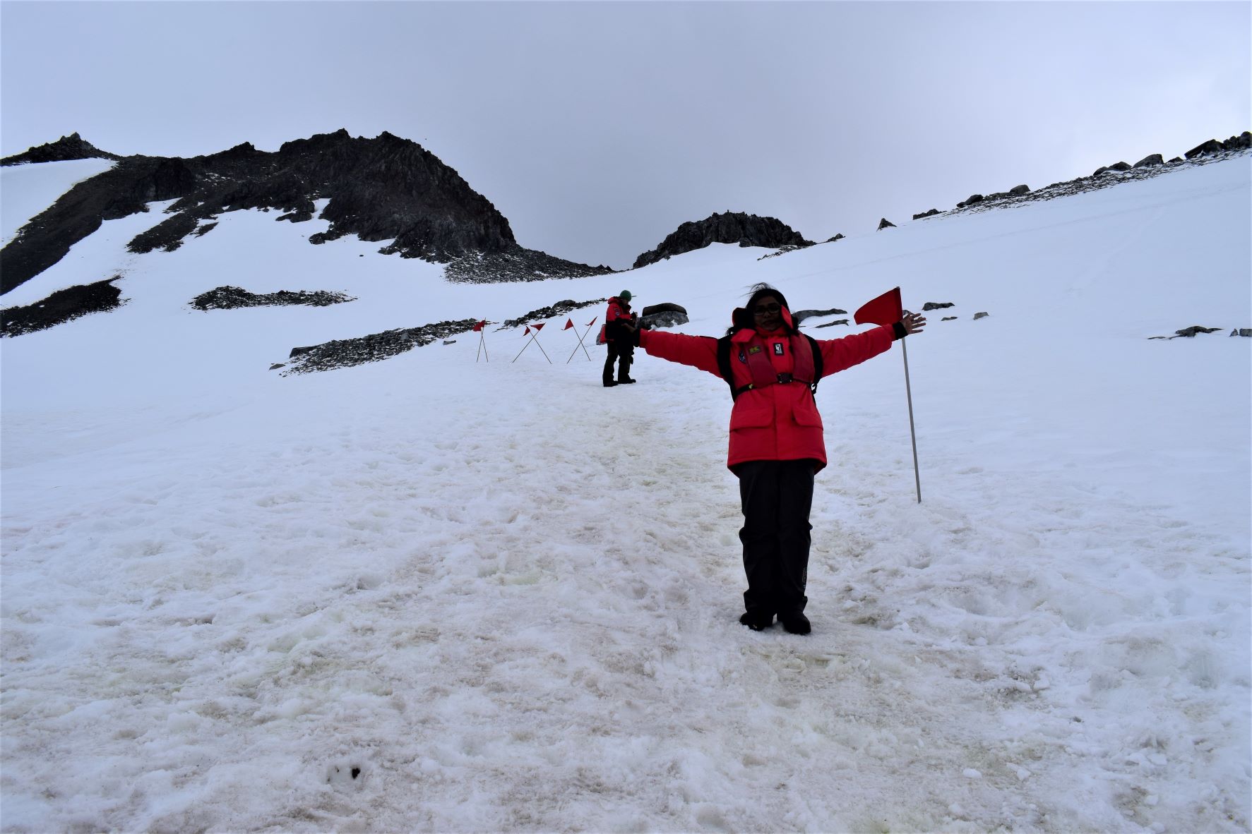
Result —
<instances>
[{"instance_id":1,"label":"bright red parka on the woman with outstretched arms","mask_svg":"<svg viewBox=\"0 0 1252 834\"><path fill-rule=\"evenodd\" d=\"M891 326L875 328L843 339L819 340L823 376L859 365L886 351L895 340ZM640 346L650 356L659 356L682 365L691 365L721 379L717 368L717 340L710 336L687 336L680 333L641 330ZM731 374L735 388L752 381L747 364L737 359L759 348L765 351L779 374L791 374L795 350L809 349L804 336L789 336L785 330L761 333L744 328L731 336ZM808 363L805 363L808 364ZM744 391L730 413L730 454L726 465L749 460L804 460L826 465L826 444L821 433L821 415L813 391L803 381L779 383Z\"/></svg>"}]
</instances>

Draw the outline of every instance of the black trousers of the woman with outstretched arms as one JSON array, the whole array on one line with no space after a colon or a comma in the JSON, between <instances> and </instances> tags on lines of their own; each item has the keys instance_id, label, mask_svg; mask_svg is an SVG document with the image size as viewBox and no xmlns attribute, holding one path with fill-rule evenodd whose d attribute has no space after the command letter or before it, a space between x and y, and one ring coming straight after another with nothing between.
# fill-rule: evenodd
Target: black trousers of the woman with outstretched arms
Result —
<instances>
[{"instance_id":1,"label":"black trousers of the woman with outstretched arms","mask_svg":"<svg viewBox=\"0 0 1252 834\"><path fill-rule=\"evenodd\" d=\"M809 581L809 511L814 460L750 460L737 464L744 505L744 606L788 616L804 610Z\"/></svg>"}]
</instances>

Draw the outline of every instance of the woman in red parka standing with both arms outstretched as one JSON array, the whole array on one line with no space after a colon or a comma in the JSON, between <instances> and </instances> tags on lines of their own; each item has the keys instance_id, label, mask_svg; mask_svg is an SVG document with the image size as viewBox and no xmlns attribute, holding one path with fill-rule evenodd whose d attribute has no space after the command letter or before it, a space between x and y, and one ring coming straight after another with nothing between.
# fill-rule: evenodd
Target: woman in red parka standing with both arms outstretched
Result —
<instances>
[{"instance_id":1,"label":"woman in red parka standing with both arms outstretched","mask_svg":"<svg viewBox=\"0 0 1252 834\"><path fill-rule=\"evenodd\" d=\"M811 340L796 331L786 299L767 284L752 288L731 315L729 351L709 336L641 330L650 356L691 365L727 380L735 396L730 414L730 456L744 509L744 615L754 631L774 624L793 634L811 629L804 615L809 569L809 510L813 476L826 465L821 415L813 399L819 376L858 365L886 351L895 339L918 333L925 319L908 313L890 326L843 339ZM814 355L814 345L820 358ZM819 370L820 369L820 370Z\"/></svg>"}]
</instances>

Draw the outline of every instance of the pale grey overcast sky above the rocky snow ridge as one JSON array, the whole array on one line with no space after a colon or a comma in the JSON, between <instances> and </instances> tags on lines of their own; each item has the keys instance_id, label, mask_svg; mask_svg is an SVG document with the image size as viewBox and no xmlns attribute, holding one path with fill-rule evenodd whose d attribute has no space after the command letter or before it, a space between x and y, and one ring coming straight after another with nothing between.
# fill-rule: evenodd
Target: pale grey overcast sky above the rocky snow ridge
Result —
<instances>
[{"instance_id":1,"label":"pale grey overcast sky above the rocky snow ridge","mask_svg":"<svg viewBox=\"0 0 1252 834\"><path fill-rule=\"evenodd\" d=\"M810 240L1252 128L1252 4L3 3L0 151L421 143L622 269L714 211Z\"/></svg>"}]
</instances>

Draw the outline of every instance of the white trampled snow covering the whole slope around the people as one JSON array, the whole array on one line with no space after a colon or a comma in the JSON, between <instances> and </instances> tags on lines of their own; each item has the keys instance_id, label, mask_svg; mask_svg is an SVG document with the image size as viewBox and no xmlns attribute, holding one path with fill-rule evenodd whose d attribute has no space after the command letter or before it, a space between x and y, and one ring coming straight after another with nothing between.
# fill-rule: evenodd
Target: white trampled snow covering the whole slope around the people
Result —
<instances>
[{"instance_id":1,"label":"white trampled snow covering the whole slope around the people","mask_svg":"<svg viewBox=\"0 0 1252 834\"><path fill-rule=\"evenodd\" d=\"M1247 830L1248 183L497 286L277 213L141 256L164 206L105 223L3 299L130 301L0 344L0 826ZM920 505L899 346L821 385L804 638L736 621L719 379L603 389L563 318L551 365L488 328L490 363L268 370L623 288L720 335L759 280L955 303L908 343ZM359 300L188 306L223 284Z\"/></svg>"}]
</instances>

